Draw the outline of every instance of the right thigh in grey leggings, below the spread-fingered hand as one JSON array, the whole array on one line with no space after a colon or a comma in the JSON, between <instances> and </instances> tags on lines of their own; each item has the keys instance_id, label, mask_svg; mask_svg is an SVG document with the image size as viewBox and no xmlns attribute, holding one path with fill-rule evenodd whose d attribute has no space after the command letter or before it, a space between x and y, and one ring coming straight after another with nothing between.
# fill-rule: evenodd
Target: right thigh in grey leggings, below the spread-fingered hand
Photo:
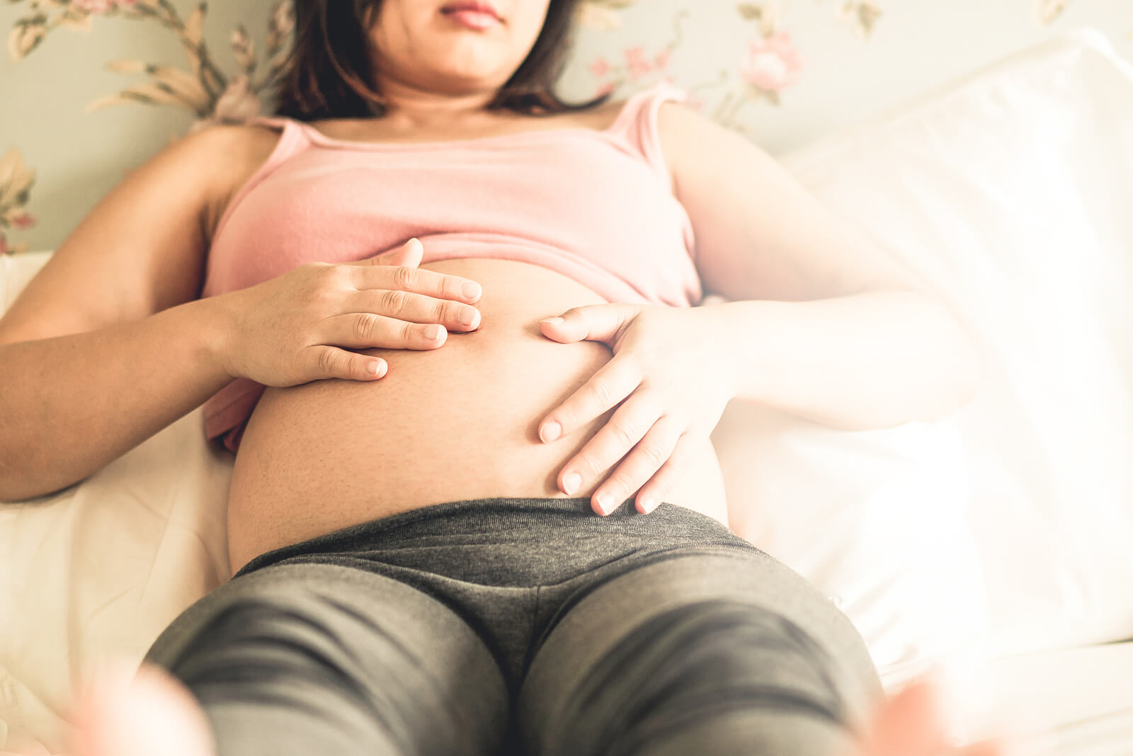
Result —
<instances>
[{"instance_id":1,"label":"right thigh in grey leggings, below the spread-fingered hand","mask_svg":"<svg viewBox=\"0 0 1133 756\"><path fill-rule=\"evenodd\" d=\"M672 554L574 604L518 702L528 756L832 756L880 702L850 620L759 551Z\"/></svg>"}]
</instances>

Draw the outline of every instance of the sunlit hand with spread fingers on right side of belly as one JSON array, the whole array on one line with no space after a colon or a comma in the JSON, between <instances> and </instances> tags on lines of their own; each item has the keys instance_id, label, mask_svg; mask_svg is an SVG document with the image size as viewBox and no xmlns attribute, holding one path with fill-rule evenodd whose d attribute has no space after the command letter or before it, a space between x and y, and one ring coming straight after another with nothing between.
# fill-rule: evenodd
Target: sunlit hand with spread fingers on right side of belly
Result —
<instances>
[{"instance_id":1,"label":"sunlit hand with spread fingers on right side of belly","mask_svg":"<svg viewBox=\"0 0 1133 756\"><path fill-rule=\"evenodd\" d=\"M563 493L583 490L623 456L594 493L596 512L608 515L637 493L637 510L648 515L673 490L735 396L734 346L718 313L712 306L610 304L540 321L547 338L604 341L614 357L544 418L539 438L564 438L622 402L560 473Z\"/></svg>"}]
</instances>

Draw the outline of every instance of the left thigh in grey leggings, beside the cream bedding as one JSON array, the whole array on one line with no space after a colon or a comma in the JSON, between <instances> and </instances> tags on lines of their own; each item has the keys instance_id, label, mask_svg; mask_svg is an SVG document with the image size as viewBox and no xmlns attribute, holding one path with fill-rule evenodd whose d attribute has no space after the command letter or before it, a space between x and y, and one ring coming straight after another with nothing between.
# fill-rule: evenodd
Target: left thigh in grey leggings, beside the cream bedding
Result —
<instances>
[{"instance_id":1,"label":"left thigh in grey leggings, beside the cream bedding","mask_svg":"<svg viewBox=\"0 0 1133 756\"><path fill-rule=\"evenodd\" d=\"M334 564L244 575L186 610L146 661L193 691L218 756L494 756L508 695L452 610Z\"/></svg>"}]
</instances>

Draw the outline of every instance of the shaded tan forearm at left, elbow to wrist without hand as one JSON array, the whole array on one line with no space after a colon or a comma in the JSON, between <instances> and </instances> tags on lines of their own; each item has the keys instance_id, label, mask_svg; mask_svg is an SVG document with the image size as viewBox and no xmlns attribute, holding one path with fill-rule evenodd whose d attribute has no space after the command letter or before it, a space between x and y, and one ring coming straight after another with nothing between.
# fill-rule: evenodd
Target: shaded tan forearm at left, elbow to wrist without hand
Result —
<instances>
[{"instance_id":1,"label":"shaded tan forearm at left, elbow to wrist without hand","mask_svg":"<svg viewBox=\"0 0 1133 756\"><path fill-rule=\"evenodd\" d=\"M230 382L213 305L0 345L0 501L85 478Z\"/></svg>"}]
</instances>

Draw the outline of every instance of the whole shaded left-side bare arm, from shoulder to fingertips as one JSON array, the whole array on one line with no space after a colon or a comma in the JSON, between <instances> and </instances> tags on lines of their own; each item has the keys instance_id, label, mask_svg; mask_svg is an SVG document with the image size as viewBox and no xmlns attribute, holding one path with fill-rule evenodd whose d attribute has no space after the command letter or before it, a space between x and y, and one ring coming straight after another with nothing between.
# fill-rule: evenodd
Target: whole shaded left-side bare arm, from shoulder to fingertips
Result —
<instances>
[{"instance_id":1,"label":"whole shaded left-side bare arm, from shoulder to fingertips","mask_svg":"<svg viewBox=\"0 0 1133 756\"><path fill-rule=\"evenodd\" d=\"M276 139L214 127L167 147L102 198L0 318L0 500L83 479L233 377L380 380L383 360L348 349L435 349L445 329L470 330L460 315L478 291L417 269L414 240L198 300L222 199Z\"/></svg>"}]
</instances>

